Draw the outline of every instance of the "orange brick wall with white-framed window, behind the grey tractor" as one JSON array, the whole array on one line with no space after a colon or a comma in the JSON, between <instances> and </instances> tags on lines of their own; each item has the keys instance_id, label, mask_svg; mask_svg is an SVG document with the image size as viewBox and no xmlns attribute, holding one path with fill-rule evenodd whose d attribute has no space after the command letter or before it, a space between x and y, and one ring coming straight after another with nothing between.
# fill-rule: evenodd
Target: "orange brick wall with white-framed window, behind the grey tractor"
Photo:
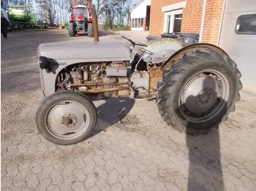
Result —
<instances>
[{"instance_id":1,"label":"orange brick wall with white-framed window, behind the grey tractor","mask_svg":"<svg viewBox=\"0 0 256 191\"><path fill-rule=\"evenodd\" d=\"M207 1L203 42L217 44L224 2L225 0ZM160 36L172 32L199 34L202 10L203 0L151 0L149 35Z\"/></svg>"}]
</instances>

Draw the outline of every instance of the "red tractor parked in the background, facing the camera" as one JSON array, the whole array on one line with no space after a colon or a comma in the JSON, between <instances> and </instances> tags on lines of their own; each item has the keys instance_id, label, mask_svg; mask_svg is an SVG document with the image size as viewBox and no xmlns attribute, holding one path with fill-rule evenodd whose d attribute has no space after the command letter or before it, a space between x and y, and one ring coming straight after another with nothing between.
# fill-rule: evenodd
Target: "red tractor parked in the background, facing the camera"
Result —
<instances>
[{"instance_id":1,"label":"red tractor parked in the background, facing the camera","mask_svg":"<svg viewBox=\"0 0 256 191\"><path fill-rule=\"evenodd\" d=\"M70 9L69 36L86 32L89 37L94 36L91 3L89 1L88 6L77 5L75 1L75 6Z\"/></svg>"}]
</instances>

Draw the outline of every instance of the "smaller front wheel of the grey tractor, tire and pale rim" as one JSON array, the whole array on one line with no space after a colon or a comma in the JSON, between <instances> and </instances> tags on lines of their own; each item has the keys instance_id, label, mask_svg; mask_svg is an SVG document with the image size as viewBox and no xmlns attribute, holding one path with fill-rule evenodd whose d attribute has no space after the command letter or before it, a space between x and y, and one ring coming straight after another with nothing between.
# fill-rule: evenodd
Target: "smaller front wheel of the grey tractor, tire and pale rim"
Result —
<instances>
[{"instance_id":1,"label":"smaller front wheel of the grey tractor, tire and pale rim","mask_svg":"<svg viewBox=\"0 0 256 191\"><path fill-rule=\"evenodd\" d=\"M76 144L91 136L97 110L85 95L71 91L53 93L36 114L39 133L54 144Z\"/></svg>"}]
</instances>

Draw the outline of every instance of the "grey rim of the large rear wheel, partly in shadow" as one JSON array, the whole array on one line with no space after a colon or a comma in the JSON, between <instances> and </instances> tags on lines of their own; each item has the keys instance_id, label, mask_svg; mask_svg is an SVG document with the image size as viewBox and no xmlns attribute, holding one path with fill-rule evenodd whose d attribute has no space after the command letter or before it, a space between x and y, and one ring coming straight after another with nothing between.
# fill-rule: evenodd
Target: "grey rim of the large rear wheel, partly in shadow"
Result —
<instances>
[{"instance_id":1,"label":"grey rim of the large rear wheel, partly in shadow","mask_svg":"<svg viewBox=\"0 0 256 191\"><path fill-rule=\"evenodd\" d=\"M184 85L179 110L189 122L207 122L225 109L230 83L220 71L200 71Z\"/></svg>"}]
</instances>

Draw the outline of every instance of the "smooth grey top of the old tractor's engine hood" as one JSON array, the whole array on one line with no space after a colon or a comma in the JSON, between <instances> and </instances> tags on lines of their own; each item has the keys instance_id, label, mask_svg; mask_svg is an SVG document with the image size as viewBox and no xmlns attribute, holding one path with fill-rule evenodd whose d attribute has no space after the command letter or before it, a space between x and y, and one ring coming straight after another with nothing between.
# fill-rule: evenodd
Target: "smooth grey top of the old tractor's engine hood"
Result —
<instances>
[{"instance_id":1,"label":"smooth grey top of the old tractor's engine hood","mask_svg":"<svg viewBox=\"0 0 256 191\"><path fill-rule=\"evenodd\" d=\"M40 44L38 56L81 62L130 61L129 47L123 42L66 42Z\"/></svg>"}]
</instances>

